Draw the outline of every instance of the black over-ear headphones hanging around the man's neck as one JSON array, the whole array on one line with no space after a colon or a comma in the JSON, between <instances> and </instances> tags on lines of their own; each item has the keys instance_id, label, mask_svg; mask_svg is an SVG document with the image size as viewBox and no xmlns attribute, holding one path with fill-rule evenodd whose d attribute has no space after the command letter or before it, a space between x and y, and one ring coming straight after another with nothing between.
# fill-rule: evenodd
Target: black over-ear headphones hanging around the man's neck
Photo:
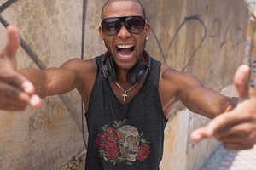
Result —
<instances>
[{"instance_id":1,"label":"black over-ear headphones hanging around the man's neck","mask_svg":"<svg viewBox=\"0 0 256 170\"><path fill-rule=\"evenodd\" d=\"M131 85L143 82L151 70L152 59L146 50L143 51L143 56L147 59L147 65L143 62L137 62L127 73L126 82ZM115 63L108 51L102 57L102 71L105 78L112 82L116 81Z\"/></svg>"}]
</instances>

